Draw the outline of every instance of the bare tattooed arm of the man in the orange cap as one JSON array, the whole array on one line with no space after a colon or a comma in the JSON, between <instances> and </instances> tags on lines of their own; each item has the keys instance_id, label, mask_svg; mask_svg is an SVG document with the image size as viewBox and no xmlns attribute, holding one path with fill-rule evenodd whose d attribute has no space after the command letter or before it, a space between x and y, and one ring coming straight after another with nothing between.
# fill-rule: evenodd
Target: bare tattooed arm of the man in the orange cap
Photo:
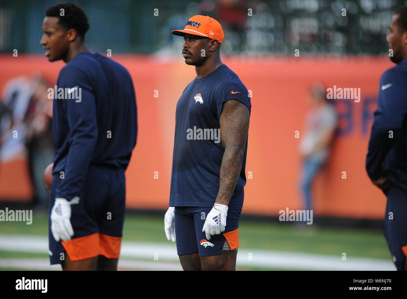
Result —
<instances>
[{"instance_id":1,"label":"bare tattooed arm of the man in the orange cap","mask_svg":"<svg viewBox=\"0 0 407 299\"><path fill-rule=\"evenodd\" d=\"M238 100L227 100L222 105L219 123L223 154L219 192L215 203L228 205L242 170L243 155L249 131L249 109Z\"/></svg>"}]
</instances>

